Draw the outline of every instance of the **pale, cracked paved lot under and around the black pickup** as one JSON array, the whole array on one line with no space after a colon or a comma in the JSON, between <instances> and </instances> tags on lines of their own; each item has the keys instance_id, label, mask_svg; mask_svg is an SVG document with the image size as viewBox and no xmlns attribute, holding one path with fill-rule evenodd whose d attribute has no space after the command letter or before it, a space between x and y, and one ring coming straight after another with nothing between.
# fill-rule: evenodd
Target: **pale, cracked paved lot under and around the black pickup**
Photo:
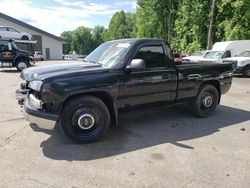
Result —
<instances>
[{"instance_id":1,"label":"pale, cracked paved lot under and around the black pickup","mask_svg":"<svg viewBox=\"0 0 250 188\"><path fill-rule=\"evenodd\" d=\"M233 79L210 118L185 107L126 112L103 140L77 145L23 119L19 75L0 70L0 187L250 187L249 78Z\"/></svg>"}]
</instances>

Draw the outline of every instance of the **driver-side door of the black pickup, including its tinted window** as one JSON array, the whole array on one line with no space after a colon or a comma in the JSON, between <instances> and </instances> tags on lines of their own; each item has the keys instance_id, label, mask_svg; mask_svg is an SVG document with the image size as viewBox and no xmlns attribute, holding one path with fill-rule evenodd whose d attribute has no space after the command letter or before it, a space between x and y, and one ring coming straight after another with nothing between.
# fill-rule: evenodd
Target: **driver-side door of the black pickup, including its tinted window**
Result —
<instances>
[{"instance_id":1,"label":"driver-side door of the black pickup, including its tinted window","mask_svg":"<svg viewBox=\"0 0 250 188\"><path fill-rule=\"evenodd\" d=\"M136 49L132 59L144 60L146 68L127 73L120 80L121 107L174 102L177 73L163 46L159 41Z\"/></svg>"}]
</instances>

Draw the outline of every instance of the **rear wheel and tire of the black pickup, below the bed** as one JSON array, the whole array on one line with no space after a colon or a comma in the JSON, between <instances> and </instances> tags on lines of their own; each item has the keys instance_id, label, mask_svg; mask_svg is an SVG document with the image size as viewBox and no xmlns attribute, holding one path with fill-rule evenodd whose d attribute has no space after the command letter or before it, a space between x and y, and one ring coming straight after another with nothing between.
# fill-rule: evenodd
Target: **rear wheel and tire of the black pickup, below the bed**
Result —
<instances>
[{"instance_id":1,"label":"rear wheel and tire of the black pickup, below the bed","mask_svg":"<svg viewBox=\"0 0 250 188\"><path fill-rule=\"evenodd\" d=\"M193 103L193 111L196 116L205 118L211 116L219 102L218 90L213 85L205 84Z\"/></svg>"}]
</instances>

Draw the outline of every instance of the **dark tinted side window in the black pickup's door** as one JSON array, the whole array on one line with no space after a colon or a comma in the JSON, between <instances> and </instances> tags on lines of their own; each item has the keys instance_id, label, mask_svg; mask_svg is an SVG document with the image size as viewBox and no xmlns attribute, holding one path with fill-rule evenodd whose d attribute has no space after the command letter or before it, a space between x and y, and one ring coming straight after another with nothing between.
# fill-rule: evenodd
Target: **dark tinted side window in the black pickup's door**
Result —
<instances>
[{"instance_id":1,"label":"dark tinted side window in the black pickup's door","mask_svg":"<svg viewBox=\"0 0 250 188\"><path fill-rule=\"evenodd\" d=\"M143 59L146 64L146 68L166 66L165 53L161 45L141 47L136 52L133 59Z\"/></svg>"}]
</instances>

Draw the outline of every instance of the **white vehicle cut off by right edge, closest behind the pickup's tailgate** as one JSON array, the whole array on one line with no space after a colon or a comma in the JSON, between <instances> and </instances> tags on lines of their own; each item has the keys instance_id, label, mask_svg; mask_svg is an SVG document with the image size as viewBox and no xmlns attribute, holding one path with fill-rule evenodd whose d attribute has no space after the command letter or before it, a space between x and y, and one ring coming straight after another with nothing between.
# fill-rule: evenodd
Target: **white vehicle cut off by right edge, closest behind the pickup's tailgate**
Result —
<instances>
[{"instance_id":1,"label":"white vehicle cut off by right edge, closest behind the pickup's tailgate","mask_svg":"<svg viewBox=\"0 0 250 188\"><path fill-rule=\"evenodd\" d=\"M234 74L250 77L250 49L240 53L237 57L223 60L223 63L234 63Z\"/></svg>"}]
</instances>

